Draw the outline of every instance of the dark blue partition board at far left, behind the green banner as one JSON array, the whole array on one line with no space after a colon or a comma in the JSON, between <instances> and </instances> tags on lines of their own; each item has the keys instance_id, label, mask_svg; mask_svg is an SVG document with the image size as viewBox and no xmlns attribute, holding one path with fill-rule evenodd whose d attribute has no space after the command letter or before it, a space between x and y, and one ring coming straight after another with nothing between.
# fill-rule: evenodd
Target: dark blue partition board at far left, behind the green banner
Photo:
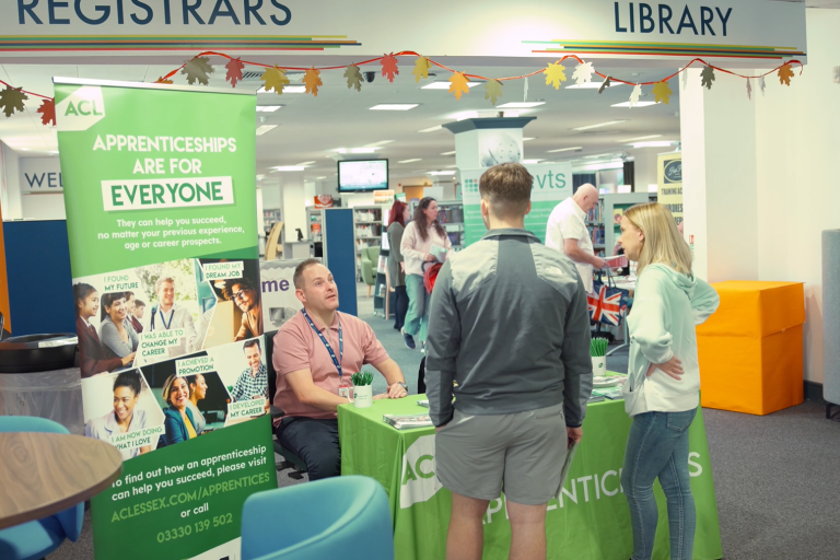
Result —
<instances>
[{"instance_id":1,"label":"dark blue partition board at far left, behind the green banner","mask_svg":"<svg viewBox=\"0 0 840 560\"><path fill-rule=\"evenodd\" d=\"M65 220L3 222L12 336L75 332Z\"/></svg>"}]
</instances>

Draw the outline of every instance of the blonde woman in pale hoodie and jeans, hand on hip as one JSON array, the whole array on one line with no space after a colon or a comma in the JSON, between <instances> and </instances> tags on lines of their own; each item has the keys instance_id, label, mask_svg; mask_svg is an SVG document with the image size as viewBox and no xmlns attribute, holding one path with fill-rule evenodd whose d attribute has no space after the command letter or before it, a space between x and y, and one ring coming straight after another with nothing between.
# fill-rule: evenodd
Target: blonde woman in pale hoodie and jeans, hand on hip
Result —
<instances>
[{"instance_id":1,"label":"blonde woman in pale hoodie and jeans, hand on hip","mask_svg":"<svg viewBox=\"0 0 840 560\"><path fill-rule=\"evenodd\" d=\"M639 262L633 310L628 316L630 362L625 408L633 418L621 486L630 506L632 560L650 560L660 479L668 504L672 560L691 560L695 500L688 471L688 430L700 405L695 326L718 310L720 299L691 272L691 252L670 211L637 205L621 220L621 245Z\"/></svg>"}]
</instances>

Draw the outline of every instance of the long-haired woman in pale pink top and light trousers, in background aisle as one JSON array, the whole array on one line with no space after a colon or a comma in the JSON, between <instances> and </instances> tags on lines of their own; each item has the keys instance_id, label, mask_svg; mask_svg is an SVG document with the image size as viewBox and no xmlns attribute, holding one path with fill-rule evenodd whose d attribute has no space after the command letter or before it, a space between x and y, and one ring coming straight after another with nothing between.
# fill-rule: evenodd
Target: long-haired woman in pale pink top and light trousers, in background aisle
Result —
<instances>
[{"instance_id":1,"label":"long-haired woman in pale pink top and light trousers, in background aisle","mask_svg":"<svg viewBox=\"0 0 840 560\"><path fill-rule=\"evenodd\" d=\"M410 349L417 348L415 337L425 342L429 328L429 293L423 284L423 265L443 261L452 248L446 230L438 221L438 202L430 197L420 200L415 219L402 233L400 250L406 264L406 292L408 313L402 326L402 338ZM445 254L441 254L445 252ZM436 256L435 256L436 255Z\"/></svg>"}]
</instances>

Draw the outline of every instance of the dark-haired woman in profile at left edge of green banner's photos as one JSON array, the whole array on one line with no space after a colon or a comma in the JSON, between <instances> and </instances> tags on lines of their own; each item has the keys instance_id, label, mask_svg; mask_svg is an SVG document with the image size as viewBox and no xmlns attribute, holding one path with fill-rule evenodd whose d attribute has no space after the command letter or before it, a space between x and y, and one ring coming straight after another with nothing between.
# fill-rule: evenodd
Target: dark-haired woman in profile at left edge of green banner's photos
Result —
<instances>
[{"instance_id":1,"label":"dark-haired woman in profile at left edge of green banner's photos","mask_svg":"<svg viewBox=\"0 0 840 560\"><path fill-rule=\"evenodd\" d=\"M121 358L105 357L100 335L91 323L100 311L100 293L96 289L83 282L73 284L73 299L75 300L75 334L79 336L79 368L82 371L82 377L113 372L131 363L135 359L133 352Z\"/></svg>"}]
</instances>

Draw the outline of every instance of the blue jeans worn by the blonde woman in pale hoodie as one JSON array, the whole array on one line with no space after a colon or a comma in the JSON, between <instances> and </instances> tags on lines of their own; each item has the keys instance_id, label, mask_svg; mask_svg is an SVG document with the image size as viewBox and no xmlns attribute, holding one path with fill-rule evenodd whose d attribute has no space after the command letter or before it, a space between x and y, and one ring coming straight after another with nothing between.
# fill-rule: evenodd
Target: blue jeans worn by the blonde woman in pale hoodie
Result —
<instances>
[{"instance_id":1,"label":"blue jeans worn by the blonde woman in pale hoodie","mask_svg":"<svg viewBox=\"0 0 840 560\"><path fill-rule=\"evenodd\" d=\"M656 478L668 503L670 560L691 560L697 513L688 474L688 429L695 415L697 409L633 417L621 472L633 527L632 560L651 560L653 553L658 522L653 498Z\"/></svg>"}]
</instances>

